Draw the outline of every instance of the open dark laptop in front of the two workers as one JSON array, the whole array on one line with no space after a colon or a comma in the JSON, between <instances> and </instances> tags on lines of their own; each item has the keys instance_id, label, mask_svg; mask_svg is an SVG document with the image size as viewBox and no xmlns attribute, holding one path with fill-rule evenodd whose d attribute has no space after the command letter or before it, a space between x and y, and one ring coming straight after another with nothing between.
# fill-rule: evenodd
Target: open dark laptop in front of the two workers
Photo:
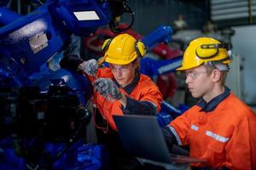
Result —
<instances>
[{"instance_id":1,"label":"open dark laptop in front of the two workers","mask_svg":"<svg viewBox=\"0 0 256 170\"><path fill-rule=\"evenodd\" d=\"M113 116L124 149L132 156L163 163L196 163L205 160L169 153L156 116ZM182 149L181 149L182 150Z\"/></svg>"}]
</instances>

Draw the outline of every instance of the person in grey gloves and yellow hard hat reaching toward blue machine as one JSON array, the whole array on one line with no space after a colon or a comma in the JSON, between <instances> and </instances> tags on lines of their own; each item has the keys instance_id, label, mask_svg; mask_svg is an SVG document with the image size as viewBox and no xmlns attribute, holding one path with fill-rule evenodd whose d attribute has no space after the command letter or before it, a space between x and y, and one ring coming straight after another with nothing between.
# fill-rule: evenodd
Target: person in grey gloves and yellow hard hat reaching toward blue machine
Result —
<instances>
[{"instance_id":1,"label":"person in grey gloves and yellow hard hat reaching toward blue machine","mask_svg":"<svg viewBox=\"0 0 256 170\"><path fill-rule=\"evenodd\" d=\"M79 67L92 82L98 142L109 149L110 169L123 169L126 156L113 115L155 115L160 111L162 96L150 77L139 73L140 58L146 53L143 42L120 34L106 40L102 50L109 67L99 68L96 59L84 61L74 56L62 60L61 65ZM132 164L127 157L128 164Z\"/></svg>"}]
</instances>

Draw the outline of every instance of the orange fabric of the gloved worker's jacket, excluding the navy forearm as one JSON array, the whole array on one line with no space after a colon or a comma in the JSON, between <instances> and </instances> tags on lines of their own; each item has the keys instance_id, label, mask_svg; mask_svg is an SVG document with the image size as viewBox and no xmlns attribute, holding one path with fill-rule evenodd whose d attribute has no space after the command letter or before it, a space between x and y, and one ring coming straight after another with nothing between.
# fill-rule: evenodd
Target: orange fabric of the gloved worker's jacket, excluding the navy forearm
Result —
<instances>
[{"instance_id":1,"label":"orange fabric of the gloved worker's jacket, excluding the navy forearm","mask_svg":"<svg viewBox=\"0 0 256 170\"><path fill-rule=\"evenodd\" d=\"M90 77L90 82L93 82L95 77ZM113 78L113 74L108 67L101 68L97 71L96 77L101 78ZM156 107L156 111L160 111L160 105L162 103L162 95L160 94L159 88L154 84L154 82L150 79L150 77L140 74L140 79L137 83L136 88L134 88L131 94L127 94L123 88L119 88L119 90L125 95L131 97L131 99L136 99L138 101L148 101L152 105ZM102 116L107 120L109 125L113 128L113 130L117 131L117 127L113 122L113 115L123 115L123 111L121 110L121 104L118 100L113 99L110 101L106 99L104 96L93 92L93 103L96 105L96 108L100 111ZM140 112L137 112L139 115Z\"/></svg>"}]
</instances>

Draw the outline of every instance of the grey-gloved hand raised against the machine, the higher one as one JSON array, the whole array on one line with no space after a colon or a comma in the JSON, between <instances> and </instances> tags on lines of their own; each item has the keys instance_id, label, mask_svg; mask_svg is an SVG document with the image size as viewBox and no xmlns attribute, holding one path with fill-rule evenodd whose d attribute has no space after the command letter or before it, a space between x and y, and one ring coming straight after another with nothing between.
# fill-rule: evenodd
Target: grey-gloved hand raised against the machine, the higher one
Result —
<instances>
[{"instance_id":1,"label":"grey-gloved hand raised against the machine, the higher one","mask_svg":"<svg viewBox=\"0 0 256 170\"><path fill-rule=\"evenodd\" d=\"M80 64L80 69L85 71L86 74L94 76L99 69L99 65L96 59L89 59L88 61L84 61L82 64Z\"/></svg>"}]
</instances>

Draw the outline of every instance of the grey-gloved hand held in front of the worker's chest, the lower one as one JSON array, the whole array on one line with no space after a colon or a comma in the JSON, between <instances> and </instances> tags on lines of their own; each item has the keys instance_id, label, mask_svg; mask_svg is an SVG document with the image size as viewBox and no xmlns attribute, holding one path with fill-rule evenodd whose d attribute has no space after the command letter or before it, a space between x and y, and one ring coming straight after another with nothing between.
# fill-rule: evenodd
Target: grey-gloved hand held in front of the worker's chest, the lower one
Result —
<instances>
[{"instance_id":1,"label":"grey-gloved hand held in front of the worker's chest, the lower one","mask_svg":"<svg viewBox=\"0 0 256 170\"><path fill-rule=\"evenodd\" d=\"M122 97L119 88L110 78L99 78L95 82L92 82L92 85L102 96L108 97L109 94L113 99L121 99Z\"/></svg>"}]
</instances>

